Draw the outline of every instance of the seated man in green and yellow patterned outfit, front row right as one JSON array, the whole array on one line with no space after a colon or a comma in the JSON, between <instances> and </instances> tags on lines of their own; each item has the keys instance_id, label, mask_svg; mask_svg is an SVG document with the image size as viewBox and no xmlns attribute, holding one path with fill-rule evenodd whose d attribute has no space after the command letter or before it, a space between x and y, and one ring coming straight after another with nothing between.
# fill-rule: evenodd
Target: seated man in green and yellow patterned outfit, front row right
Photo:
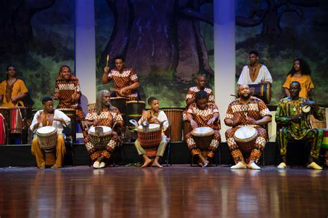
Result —
<instances>
[{"instance_id":1,"label":"seated man in green and yellow patterned outfit, front row right","mask_svg":"<svg viewBox=\"0 0 328 218\"><path fill-rule=\"evenodd\" d=\"M282 163L277 168L287 168L286 151L289 141L310 141L311 152L307 168L321 170L322 168L313 161L313 158L318 159L319 157L323 130L311 128L309 114L311 113L318 120L323 120L322 113L314 101L299 97L300 91L300 83L293 81L289 88L291 96L281 99L277 107L275 121L277 125L280 125L277 130L277 137L279 137L280 155L282 156ZM304 106L311 107L311 111L302 112Z\"/></svg>"}]
</instances>

